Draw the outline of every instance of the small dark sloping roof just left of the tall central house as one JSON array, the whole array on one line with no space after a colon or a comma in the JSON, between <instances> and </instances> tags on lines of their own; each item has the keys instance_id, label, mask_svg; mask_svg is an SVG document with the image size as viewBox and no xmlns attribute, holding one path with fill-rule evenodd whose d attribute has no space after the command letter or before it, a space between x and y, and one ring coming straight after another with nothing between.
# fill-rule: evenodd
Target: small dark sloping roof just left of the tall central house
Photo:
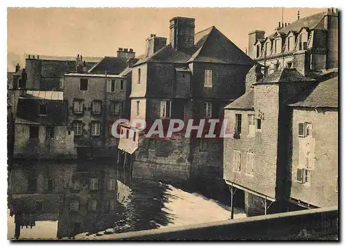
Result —
<instances>
[{"instance_id":1,"label":"small dark sloping roof just left of the tall central house","mask_svg":"<svg viewBox=\"0 0 345 247\"><path fill-rule=\"evenodd\" d=\"M107 74L119 75L127 67L127 60L126 57L103 57L88 72L93 74L107 72Z\"/></svg>"}]
</instances>

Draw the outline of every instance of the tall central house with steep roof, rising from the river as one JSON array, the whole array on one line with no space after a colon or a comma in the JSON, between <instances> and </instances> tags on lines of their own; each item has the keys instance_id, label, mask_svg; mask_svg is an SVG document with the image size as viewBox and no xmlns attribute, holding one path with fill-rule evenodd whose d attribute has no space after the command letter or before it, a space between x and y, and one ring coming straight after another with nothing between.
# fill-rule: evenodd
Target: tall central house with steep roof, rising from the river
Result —
<instances>
[{"instance_id":1,"label":"tall central house with steep roof, rising from the river","mask_svg":"<svg viewBox=\"0 0 345 247\"><path fill-rule=\"evenodd\" d=\"M222 119L228 101L245 92L253 61L215 26L195 33L195 19L170 20L170 39L151 34L146 54L132 66L130 121L156 119L168 128L170 119L194 125L200 119ZM186 126L185 126L186 127ZM170 138L145 138L144 132L120 139L119 148L132 154L134 176L162 181L188 181L201 176L221 178L222 139L189 138L184 130ZM207 130L207 128L205 128ZM203 181L203 179L200 179Z\"/></svg>"}]
</instances>

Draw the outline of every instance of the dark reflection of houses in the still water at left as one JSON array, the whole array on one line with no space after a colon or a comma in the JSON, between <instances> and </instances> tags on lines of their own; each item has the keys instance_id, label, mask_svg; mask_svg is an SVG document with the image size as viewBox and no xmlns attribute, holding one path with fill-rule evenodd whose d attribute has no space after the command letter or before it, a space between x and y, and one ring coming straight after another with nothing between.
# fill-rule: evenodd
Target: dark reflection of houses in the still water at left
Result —
<instances>
[{"instance_id":1,"label":"dark reflection of houses in the still water at left","mask_svg":"<svg viewBox=\"0 0 345 247\"><path fill-rule=\"evenodd\" d=\"M169 223L162 210L168 186L133 181L131 172L112 161L14 165L8 188L16 237L21 226L28 226L34 236L39 230L37 221L57 221L53 236L57 238L145 230Z\"/></svg>"}]
</instances>

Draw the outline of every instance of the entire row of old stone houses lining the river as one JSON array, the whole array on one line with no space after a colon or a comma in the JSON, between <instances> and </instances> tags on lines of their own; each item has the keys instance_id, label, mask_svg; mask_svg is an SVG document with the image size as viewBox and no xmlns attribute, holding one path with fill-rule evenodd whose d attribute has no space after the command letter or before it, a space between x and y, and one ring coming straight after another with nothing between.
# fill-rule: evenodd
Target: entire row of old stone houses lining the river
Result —
<instances>
[{"instance_id":1,"label":"entire row of old stone houses lining the river","mask_svg":"<svg viewBox=\"0 0 345 247\"><path fill-rule=\"evenodd\" d=\"M20 82L9 87L17 94L8 103L13 155L113 155L132 166L134 177L225 181L232 201L233 188L244 191L248 215L270 206L287 210L291 202L335 205L337 16L329 9L279 24L268 37L250 32L248 55L215 26L195 32L195 19L175 17L169 43L151 34L141 56L119 48L117 57L98 63L79 55L62 62L28 57L26 70L16 68L12 77ZM129 122L117 139L111 126L120 118ZM181 131L162 138L134 129L128 135L137 119L161 119L164 126L170 119L225 119L234 134L186 138Z\"/></svg>"}]
</instances>

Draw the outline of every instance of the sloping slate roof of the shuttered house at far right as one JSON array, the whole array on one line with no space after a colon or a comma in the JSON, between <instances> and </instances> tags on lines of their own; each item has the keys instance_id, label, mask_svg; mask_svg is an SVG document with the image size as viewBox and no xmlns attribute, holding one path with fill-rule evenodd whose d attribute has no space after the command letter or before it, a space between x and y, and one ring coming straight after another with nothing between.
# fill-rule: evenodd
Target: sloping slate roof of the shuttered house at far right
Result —
<instances>
[{"instance_id":1,"label":"sloping slate roof of the shuttered house at far right","mask_svg":"<svg viewBox=\"0 0 345 247\"><path fill-rule=\"evenodd\" d=\"M304 90L302 93L288 100L288 106L295 107L326 107L338 108L339 77L333 77L318 83L316 86Z\"/></svg>"}]
</instances>

